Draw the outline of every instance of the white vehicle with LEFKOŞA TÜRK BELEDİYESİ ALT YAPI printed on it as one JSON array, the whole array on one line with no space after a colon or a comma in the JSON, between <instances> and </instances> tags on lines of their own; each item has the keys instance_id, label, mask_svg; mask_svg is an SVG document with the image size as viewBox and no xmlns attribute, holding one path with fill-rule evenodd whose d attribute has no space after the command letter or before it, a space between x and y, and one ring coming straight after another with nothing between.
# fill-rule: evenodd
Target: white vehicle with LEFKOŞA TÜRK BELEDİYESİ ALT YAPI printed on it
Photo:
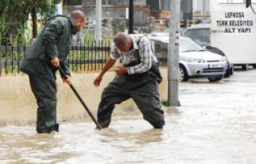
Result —
<instances>
[{"instance_id":1,"label":"white vehicle with LEFKO\u015eA T\u00dcRK BELED\u0130YES\u0130 ALT YAPI printed on it","mask_svg":"<svg viewBox=\"0 0 256 164\"><path fill-rule=\"evenodd\" d=\"M210 44L222 49L230 63L256 68L256 1L210 0Z\"/></svg>"}]
</instances>

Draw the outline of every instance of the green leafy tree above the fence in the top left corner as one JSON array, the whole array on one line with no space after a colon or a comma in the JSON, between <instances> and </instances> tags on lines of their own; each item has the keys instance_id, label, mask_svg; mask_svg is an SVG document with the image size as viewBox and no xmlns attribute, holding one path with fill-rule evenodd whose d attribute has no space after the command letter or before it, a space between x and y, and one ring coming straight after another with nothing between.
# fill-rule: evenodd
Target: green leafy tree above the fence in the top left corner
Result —
<instances>
[{"instance_id":1,"label":"green leafy tree above the fence in the top left corner","mask_svg":"<svg viewBox=\"0 0 256 164\"><path fill-rule=\"evenodd\" d=\"M31 14L33 38L37 37L37 14L46 20L54 14L55 5L62 0L3 0L0 3L0 24L5 29L4 33L0 27L0 33L6 37L17 36L21 29L26 29L26 21ZM1 21L1 20L4 20Z\"/></svg>"}]
</instances>

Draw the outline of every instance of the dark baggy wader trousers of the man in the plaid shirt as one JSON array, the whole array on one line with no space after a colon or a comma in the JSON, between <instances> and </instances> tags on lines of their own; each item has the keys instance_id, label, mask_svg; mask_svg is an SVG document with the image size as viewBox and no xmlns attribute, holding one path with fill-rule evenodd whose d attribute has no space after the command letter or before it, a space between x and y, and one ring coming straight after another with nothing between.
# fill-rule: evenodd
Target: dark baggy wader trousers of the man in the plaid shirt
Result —
<instances>
[{"instance_id":1,"label":"dark baggy wader trousers of the man in the plaid shirt","mask_svg":"<svg viewBox=\"0 0 256 164\"><path fill-rule=\"evenodd\" d=\"M144 76L139 80L130 80L127 76L116 76L102 92L102 100L98 106L98 123L102 127L110 125L114 105L133 99L143 119L153 127L162 128L165 124L163 111L159 101L158 82L156 78Z\"/></svg>"}]
</instances>

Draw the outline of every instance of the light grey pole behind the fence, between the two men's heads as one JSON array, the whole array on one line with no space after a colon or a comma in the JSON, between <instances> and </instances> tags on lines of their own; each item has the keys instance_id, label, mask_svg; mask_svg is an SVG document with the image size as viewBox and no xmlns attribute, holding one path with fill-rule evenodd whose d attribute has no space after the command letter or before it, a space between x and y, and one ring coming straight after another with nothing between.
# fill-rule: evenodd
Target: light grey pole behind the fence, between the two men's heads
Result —
<instances>
[{"instance_id":1,"label":"light grey pole behind the fence, between the two men's heads","mask_svg":"<svg viewBox=\"0 0 256 164\"><path fill-rule=\"evenodd\" d=\"M97 45L102 40L102 0L96 0L95 40Z\"/></svg>"}]
</instances>

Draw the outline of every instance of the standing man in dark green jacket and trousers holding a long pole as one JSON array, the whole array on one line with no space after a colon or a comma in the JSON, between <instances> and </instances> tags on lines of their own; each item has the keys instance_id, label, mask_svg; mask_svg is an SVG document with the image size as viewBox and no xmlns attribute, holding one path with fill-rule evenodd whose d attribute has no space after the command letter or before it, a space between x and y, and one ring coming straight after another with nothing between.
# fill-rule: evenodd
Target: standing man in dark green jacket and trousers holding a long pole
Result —
<instances>
[{"instance_id":1,"label":"standing man in dark green jacket and trousers holding a long pole","mask_svg":"<svg viewBox=\"0 0 256 164\"><path fill-rule=\"evenodd\" d=\"M30 88L38 104L38 133L58 131L55 72L61 67L67 76L65 79L62 75L62 80L71 84L66 58L72 34L81 31L85 24L85 14L80 10L74 10L68 17L58 15L50 18L22 62L21 71L29 76Z\"/></svg>"}]
</instances>

